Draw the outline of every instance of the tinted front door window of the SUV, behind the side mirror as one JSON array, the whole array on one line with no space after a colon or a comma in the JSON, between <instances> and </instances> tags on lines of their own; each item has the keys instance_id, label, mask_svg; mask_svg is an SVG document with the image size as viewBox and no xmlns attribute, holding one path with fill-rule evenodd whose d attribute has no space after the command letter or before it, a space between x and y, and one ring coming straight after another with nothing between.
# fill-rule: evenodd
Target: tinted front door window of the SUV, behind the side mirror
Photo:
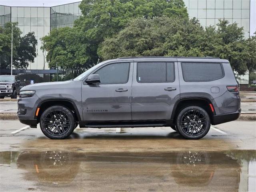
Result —
<instances>
[{"instance_id":1,"label":"tinted front door window of the SUV, behind the side mirror","mask_svg":"<svg viewBox=\"0 0 256 192\"><path fill-rule=\"evenodd\" d=\"M95 74L100 76L102 84L126 83L129 76L130 63L114 63L107 65Z\"/></svg>"}]
</instances>

